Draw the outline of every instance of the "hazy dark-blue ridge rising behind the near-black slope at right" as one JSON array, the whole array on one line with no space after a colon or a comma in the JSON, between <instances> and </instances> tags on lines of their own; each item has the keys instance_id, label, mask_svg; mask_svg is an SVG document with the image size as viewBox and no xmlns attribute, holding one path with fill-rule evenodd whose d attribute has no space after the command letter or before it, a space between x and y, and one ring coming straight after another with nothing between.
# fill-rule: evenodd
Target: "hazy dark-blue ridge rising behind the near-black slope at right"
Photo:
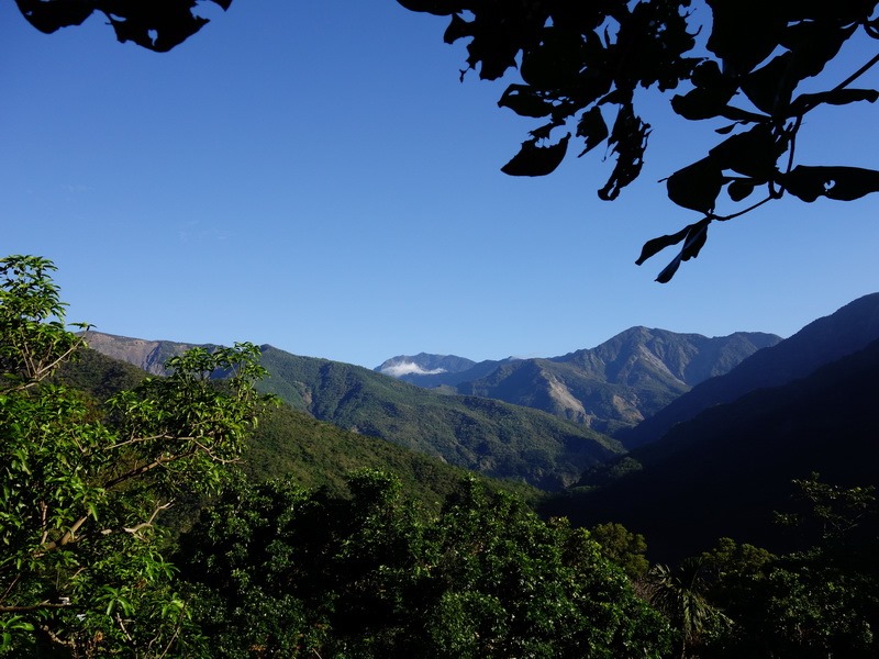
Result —
<instances>
[{"instance_id":1,"label":"hazy dark-blue ridge rising behind the near-black slope at right","mask_svg":"<svg viewBox=\"0 0 879 659\"><path fill-rule=\"evenodd\" d=\"M879 338L879 293L859 298L790 338L760 350L724 376L702 382L637 427L616 434L627 447L656 442L702 410L763 387L778 387L864 348Z\"/></svg>"}]
</instances>

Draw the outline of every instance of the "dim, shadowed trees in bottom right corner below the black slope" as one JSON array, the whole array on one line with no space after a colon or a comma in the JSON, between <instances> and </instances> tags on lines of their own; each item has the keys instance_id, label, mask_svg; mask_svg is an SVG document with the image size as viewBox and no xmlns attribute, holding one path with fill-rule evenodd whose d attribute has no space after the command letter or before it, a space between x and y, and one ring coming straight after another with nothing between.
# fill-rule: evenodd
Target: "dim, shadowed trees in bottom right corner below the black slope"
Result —
<instances>
[{"instance_id":1,"label":"dim, shadowed trees in bottom right corner below the black slope","mask_svg":"<svg viewBox=\"0 0 879 659\"><path fill-rule=\"evenodd\" d=\"M704 659L876 657L879 535L872 488L841 488L816 476L794 481L801 511L780 515L804 534L798 550L774 556L722 538L698 559L693 583L727 621L691 636ZM686 629L686 627L685 627Z\"/></svg>"}]
</instances>

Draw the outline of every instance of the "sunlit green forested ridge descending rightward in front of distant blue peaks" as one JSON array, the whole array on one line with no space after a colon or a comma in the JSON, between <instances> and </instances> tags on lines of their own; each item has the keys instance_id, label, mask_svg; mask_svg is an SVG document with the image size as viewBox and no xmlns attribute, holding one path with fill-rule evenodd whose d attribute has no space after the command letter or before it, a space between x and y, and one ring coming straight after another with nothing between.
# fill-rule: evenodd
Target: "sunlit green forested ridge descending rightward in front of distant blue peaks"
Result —
<instances>
[{"instance_id":1,"label":"sunlit green forested ridge descending rightward in front of distant blue peaks","mask_svg":"<svg viewBox=\"0 0 879 659\"><path fill-rule=\"evenodd\" d=\"M326 359L263 348L260 384L293 409L449 465L542 490L622 453L617 442L560 418L475 396L444 395Z\"/></svg>"}]
</instances>

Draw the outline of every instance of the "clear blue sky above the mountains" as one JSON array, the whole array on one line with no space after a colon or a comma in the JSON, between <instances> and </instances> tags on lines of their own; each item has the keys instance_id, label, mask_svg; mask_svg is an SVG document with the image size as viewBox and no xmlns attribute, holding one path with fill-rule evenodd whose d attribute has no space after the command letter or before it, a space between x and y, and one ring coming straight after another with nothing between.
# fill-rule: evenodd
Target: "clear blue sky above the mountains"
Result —
<instances>
[{"instance_id":1,"label":"clear blue sky above the mountains","mask_svg":"<svg viewBox=\"0 0 879 659\"><path fill-rule=\"evenodd\" d=\"M877 196L769 204L655 283L672 254L636 267L642 244L698 219L657 181L717 127L661 102L641 107L641 179L607 203L601 149L500 172L535 124L497 107L505 83L458 81L444 19L393 0L210 16L155 54L97 16L43 35L0 2L0 252L55 260L70 321L374 367L555 356L633 325L788 336L879 290ZM879 167L875 107L809 122L803 163Z\"/></svg>"}]
</instances>

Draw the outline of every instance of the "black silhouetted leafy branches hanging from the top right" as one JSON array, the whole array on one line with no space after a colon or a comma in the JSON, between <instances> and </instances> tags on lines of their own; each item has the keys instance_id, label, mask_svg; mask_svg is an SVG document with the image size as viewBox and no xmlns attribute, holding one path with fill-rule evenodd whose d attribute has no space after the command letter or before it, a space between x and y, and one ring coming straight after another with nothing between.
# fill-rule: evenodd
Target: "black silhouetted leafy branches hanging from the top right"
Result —
<instances>
[{"instance_id":1,"label":"black silhouetted leafy branches hanging from the top right","mask_svg":"<svg viewBox=\"0 0 879 659\"><path fill-rule=\"evenodd\" d=\"M681 261L699 255L713 222L786 193L812 202L879 191L879 171L795 158L810 112L879 98L875 89L855 87L879 55L845 78L820 79L820 91L803 89L849 38L879 37L875 0L398 1L450 16L445 41L468 40L467 67L480 78L518 69L520 81L507 87L498 104L542 123L502 168L507 174L552 172L572 137L581 143L580 156L604 144L615 165L598 194L615 199L638 177L653 130L636 108L638 88L681 89L671 99L678 115L722 122L720 142L666 179L669 199L700 219L644 245L638 265L680 245L658 281L670 280ZM697 47L701 43L704 49Z\"/></svg>"}]
</instances>

